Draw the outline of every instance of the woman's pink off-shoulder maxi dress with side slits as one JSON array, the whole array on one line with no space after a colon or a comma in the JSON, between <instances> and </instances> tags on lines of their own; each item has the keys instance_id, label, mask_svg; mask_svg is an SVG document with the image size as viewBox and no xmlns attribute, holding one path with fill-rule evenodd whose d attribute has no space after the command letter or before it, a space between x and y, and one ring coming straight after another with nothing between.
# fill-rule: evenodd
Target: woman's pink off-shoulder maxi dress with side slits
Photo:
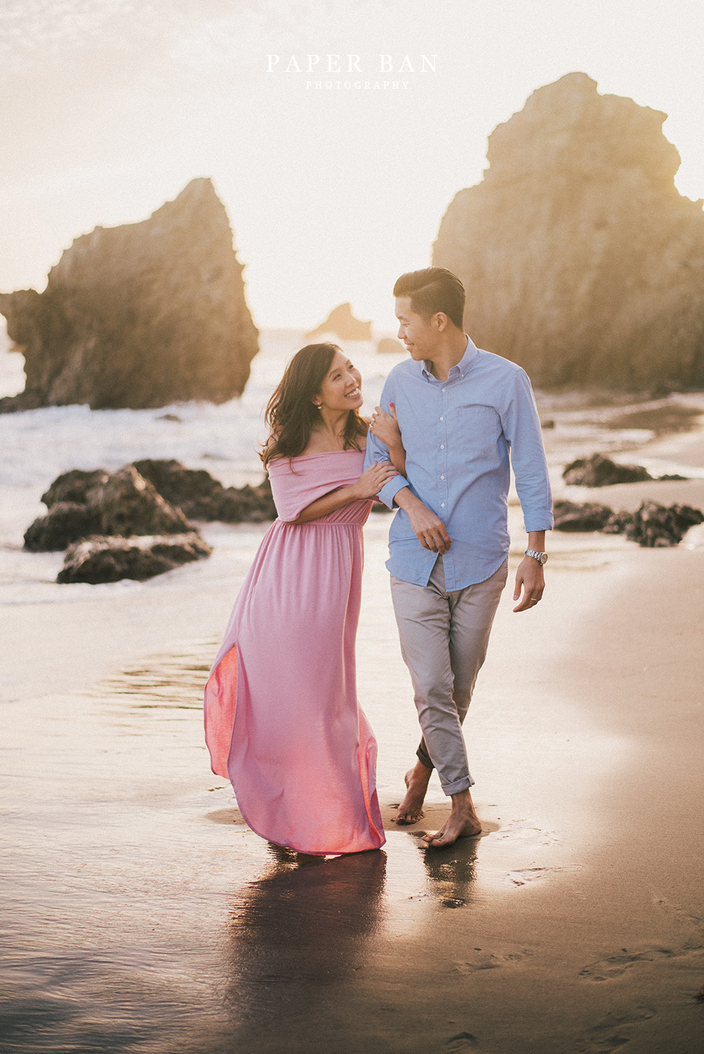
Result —
<instances>
[{"instance_id":1,"label":"woman's pink off-shoulder maxi dress with side slits","mask_svg":"<svg viewBox=\"0 0 704 1054\"><path fill-rule=\"evenodd\" d=\"M206 686L213 772L229 777L246 822L300 853L385 842L376 742L359 707L355 636L370 501L307 524L287 521L354 483L356 450L269 464L278 519L239 592Z\"/></svg>"}]
</instances>

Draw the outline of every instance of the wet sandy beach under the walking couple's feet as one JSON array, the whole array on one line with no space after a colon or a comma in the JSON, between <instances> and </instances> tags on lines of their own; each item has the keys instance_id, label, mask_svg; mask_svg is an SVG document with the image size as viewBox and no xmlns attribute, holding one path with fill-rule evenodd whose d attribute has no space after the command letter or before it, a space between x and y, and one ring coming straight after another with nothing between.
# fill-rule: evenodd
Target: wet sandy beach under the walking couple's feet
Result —
<instances>
[{"instance_id":1,"label":"wet sandy beach under the walking couple's feet","mask_svg":"<svg viewBox=\"0 0 704 1054\"><path fill-rule=\"evenodd\" d=\"M635 501L587 496L617 490ZM376 853L268 846L209 772L202 677L263 528L177 589L2 608L3 1052L702 1049L704 548L550 539L545 600L514 616L507 588L467 720L483 836L433 851L435 780L422 823L390 822L417 725L388 523L358 638Z\"/></svg>"}]
</instances>

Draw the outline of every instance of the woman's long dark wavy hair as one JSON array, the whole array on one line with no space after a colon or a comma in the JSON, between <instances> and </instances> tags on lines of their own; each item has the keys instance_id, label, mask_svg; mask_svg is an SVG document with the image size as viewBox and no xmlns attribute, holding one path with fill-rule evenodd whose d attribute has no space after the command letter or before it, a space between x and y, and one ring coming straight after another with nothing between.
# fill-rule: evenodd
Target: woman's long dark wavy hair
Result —
<instances>
[{"instance_id":1,"label":"woman's long dark wavy hair","mask_svg":"<svg viewBox=\"0 0 704 1054\"><path fill-rule=\"evenodd\" d=\"M265 414L269 440L259 454L265 468L272 457L296 457L308 446L320 413L313 396L320 391L335 353L341 350L336 344L309 344L287 366ZM357 410L350 410L343 433L344 449L358 450L357 441L366 434L367 423Z\"/></svg>"}]
</instances>

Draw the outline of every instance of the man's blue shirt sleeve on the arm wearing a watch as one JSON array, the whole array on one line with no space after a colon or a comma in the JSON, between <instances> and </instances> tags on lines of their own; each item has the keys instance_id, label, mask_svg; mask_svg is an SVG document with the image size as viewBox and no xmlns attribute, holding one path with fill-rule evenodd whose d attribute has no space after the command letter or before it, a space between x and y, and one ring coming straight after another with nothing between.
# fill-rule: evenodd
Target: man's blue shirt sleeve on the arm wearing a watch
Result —
<instances>
[{"instance_id":1,"label":"man's blue shirt sleeve on the arm wearing a watch","mask_svg":"<svg viewBox=\"0 0 704 1054\"><path fill-rule=\"evenodd\" d=\"M515 489L526 531L551 530L552 492L543 447L541 421L524 370L516 370L513 386L502 407L502 426L510 446Z\"/></svg>"}]
</instances>

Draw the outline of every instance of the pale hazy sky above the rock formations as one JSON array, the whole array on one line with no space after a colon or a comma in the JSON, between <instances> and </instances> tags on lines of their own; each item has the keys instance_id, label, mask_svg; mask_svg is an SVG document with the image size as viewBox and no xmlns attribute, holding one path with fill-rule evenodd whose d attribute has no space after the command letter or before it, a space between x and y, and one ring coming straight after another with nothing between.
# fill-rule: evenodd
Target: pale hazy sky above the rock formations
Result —
<instances>
[{"instance_id":1,"label":"pale hazy sky above the rock formations","mask_svg":"<svg viewBox=\"0 0 704 1054\"><path fill-rule=\"evenodd\" d=\"M665 111L704 197L703 45L702 0L0 0L0 290L211 176L258 325L351 300L390 329L487 136L566 73ZM329 54L361 72L305 72ZM385 81L407 86L364 86Z\"/></svg>"}]
</instances>

